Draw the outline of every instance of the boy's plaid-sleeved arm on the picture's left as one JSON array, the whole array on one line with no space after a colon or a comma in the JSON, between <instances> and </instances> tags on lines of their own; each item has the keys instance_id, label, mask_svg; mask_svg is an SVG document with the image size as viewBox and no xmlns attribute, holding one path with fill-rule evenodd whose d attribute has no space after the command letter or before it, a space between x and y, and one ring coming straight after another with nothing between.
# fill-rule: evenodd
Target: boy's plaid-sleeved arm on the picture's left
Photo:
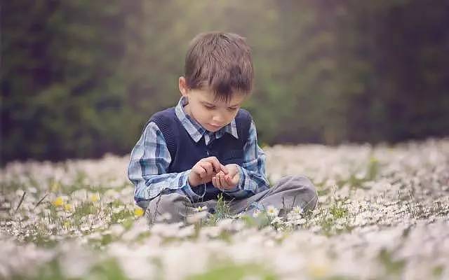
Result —
<instances>
[{"instance_id":1,"label":"boy's plaid-sleeved arm on the picture's left","mask_svg":"<svg viewBox=\"0 0 449 280\"><path fill-rule=\"evenodd\" d=\"M191 169L180 173L166 173L171 157L163 134L156 123L150 122L135 144L128 166L128 179L135 186L134 200L145 206L163 190L181 191L191 199L198 199L189 186Z\"/></svg>"}]
</instances>

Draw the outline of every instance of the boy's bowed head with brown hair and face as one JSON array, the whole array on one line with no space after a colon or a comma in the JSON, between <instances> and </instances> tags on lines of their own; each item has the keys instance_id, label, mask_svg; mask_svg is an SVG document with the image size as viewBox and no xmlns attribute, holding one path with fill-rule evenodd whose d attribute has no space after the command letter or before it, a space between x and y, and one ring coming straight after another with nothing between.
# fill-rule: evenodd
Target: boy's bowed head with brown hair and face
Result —
<instances>
[{"instance_id":1,"label":"boy's bowed head with brown hair and face","mask_svg":"<svg viewBox=\"0 0 449 280\"><path fill-rule=\"evenodd\" d=\"M189 104L186 113L206 130L229 124L253 88L251 49L245 38L232 33L197 35L185 57L180 92Z\"/></svg>"}]
</instances>

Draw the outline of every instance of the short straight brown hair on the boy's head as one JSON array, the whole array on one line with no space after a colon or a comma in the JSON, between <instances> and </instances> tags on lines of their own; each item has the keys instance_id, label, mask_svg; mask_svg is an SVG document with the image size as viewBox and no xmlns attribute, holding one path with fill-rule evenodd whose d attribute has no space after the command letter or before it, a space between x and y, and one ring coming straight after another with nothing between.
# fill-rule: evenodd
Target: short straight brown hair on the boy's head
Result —
<instances>
[{"instance_id":1,"label":"short straight brown hair on the boy's head","mask_svg":"<svg viewBox=\"0 0 449 280\"><path fill-rule=\"evenodd\" d=\"M210 88L215 98L229 102L235 91L250 94L253 59L246 38L218 31L201 33L189 44L185 78L189 89Z\"/></svg>"}]
</instances>

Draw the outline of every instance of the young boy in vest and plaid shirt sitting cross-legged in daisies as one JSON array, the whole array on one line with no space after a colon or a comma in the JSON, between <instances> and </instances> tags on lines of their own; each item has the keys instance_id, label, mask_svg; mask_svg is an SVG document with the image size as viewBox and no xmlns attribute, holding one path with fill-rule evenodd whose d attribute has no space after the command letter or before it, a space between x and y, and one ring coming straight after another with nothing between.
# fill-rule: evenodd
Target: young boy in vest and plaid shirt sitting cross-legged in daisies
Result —
<instances>
[{"instance_id":1,"label":"young boy in vest and plaid shirt sitting cross-legged in daisies","mask_svg":"<svg viewBox=\"0 0 449 280\"><path fill-rule=\"evenodd\" d=\"M269 188L255 124L240 109L253 77L245 38L209 32L192 40L180 101L150 118L130 156L134 199L148 209L150 223L163 214L169 222L185 221L197 207L213 213L220 194L231 214L269 205L280 214L314 209L317 193L304 176L284 177Z\"/></svg>"}]
</instances>

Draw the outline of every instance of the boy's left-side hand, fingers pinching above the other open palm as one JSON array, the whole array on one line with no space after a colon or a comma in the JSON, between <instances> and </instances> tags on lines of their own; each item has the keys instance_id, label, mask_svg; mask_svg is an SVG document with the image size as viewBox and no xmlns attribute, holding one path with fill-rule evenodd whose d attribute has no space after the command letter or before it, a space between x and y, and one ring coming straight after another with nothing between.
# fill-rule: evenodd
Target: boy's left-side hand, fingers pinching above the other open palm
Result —
<instances>
[{"instance_id":1,"label":"boy's left-side hand, fingers pinching above the other open palm","mask_svg":"<svg viewBox=\"0 0 449 280\"><path fill-rule=\"evenodd\" d=\"M189 184L191 187L196 187L203 183L209 183L218 172L227 174L228 170L215 157L202 158L192 167L189 174Z\"/></svg>"}]
</instances>

